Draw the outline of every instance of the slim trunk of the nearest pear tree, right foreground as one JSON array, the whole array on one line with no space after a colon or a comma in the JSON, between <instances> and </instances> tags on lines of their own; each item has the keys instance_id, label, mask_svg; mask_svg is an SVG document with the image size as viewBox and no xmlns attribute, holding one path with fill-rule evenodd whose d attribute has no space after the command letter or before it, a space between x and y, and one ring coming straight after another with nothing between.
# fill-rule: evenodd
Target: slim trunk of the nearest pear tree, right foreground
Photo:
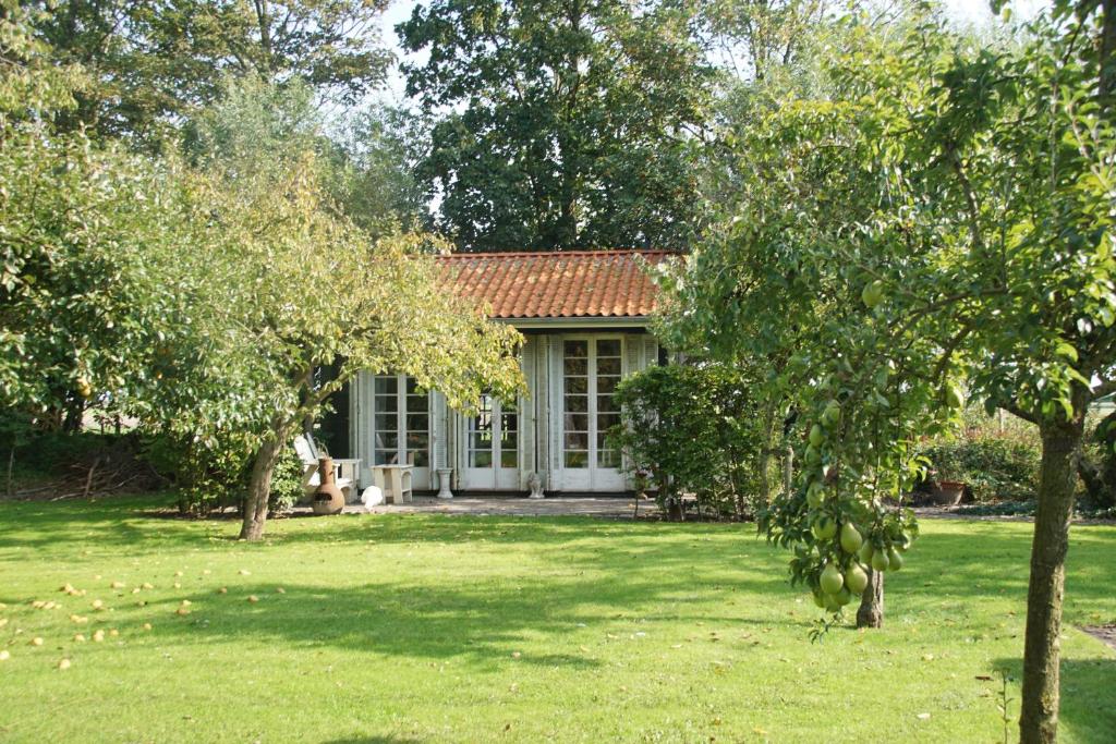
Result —
<instances>
[{"instance_id":1,"label":"slim trunk of the nearest pear tree, right foreground","mask_svg":"<svg viewBox=\"0 0 1116 744\"><path fill-rule=\"evenodd\" d=\"M1072 421L1045 419L1039 425L1042 464L1027 591L1021 744L1052 743L1058 738L1061 599L1087 404L1084 394L1076 395Z\"/></svg>"}]
</instances>

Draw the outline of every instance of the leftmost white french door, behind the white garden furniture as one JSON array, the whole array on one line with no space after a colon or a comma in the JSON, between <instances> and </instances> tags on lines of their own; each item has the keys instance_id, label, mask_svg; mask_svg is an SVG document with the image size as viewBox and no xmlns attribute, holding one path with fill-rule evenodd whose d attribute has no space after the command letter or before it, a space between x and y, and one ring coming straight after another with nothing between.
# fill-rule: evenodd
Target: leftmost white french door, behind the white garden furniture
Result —
<instances>
[{"instance_id":1,"label":"leftmost white french door, behind the white garden furniture","mask_svg":"<svg viewBox=\"0 0 1116 744\"><path fill-rule=\"evenodd\" d=\"M411 377L377 375L373 379L373 464L414 465L416 489L431 487L430 394Z\"/></svg>"}]
</instances>

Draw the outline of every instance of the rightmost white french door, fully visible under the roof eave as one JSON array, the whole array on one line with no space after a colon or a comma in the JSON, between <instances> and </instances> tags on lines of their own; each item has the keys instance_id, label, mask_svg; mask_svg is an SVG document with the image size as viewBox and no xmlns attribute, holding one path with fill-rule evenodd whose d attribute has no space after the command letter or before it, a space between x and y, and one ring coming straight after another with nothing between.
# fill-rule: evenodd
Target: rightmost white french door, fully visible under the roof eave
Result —
<instances>
[{"instance_id":1,"label":"rightmost white french door, fully visible under the roof eave","mask_svg":"<svg viewBox=\"0 0 1116 744\"><path fill-rule=\"evenodd\" d=\"M619 423L613 393L623 370L624 341L615 338L562 340L562 489L622 491L619 452L606 432Z\"/></svg>"}]
</instances>

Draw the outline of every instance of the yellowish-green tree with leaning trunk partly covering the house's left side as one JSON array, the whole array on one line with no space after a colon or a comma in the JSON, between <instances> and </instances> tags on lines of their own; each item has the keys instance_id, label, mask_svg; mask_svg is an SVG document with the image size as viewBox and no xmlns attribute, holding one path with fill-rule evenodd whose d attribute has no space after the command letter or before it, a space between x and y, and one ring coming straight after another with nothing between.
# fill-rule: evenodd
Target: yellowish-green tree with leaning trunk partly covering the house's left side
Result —
<instances>
[{"instance_id":1,"label":"yellowish-green tree with leaning trunk partly covering the house's left side","mask_svg":"<svg viewBox=\"0 0 1116 744\"><path fill-rule=\"evenodd\" d=\"M250 453L247 540L262 537L292 435L358 370L410 375L455 407L521 386L519 335L445 291L427 238L373 241L339 216L315 153L271 147L275 120L231 100L196 124L204 234L189 255L152 257L157 283L186 299L182 335L135 409L172 434ZM324 367L336 370L328 380Z\"/></svg>"}]
</instances>

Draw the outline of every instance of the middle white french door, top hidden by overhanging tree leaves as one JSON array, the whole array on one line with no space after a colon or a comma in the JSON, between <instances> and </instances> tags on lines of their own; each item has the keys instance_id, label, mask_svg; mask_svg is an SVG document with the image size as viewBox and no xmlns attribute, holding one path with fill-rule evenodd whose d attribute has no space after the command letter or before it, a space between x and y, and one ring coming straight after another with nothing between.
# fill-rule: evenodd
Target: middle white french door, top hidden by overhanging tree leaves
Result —
<instances>
[{"instance_id":1,"label":"middle white french door, top hidden by overhanging tree leaves","mask_svg":"<svg viewBox=\"0 0 1116 744\"><path fill-rule=\"evenodd\" d=\"M465 433L463 487L511 490L519 487L519 412L491 395L481 396L480 409Z\"/></svg>"}]
</instances>

